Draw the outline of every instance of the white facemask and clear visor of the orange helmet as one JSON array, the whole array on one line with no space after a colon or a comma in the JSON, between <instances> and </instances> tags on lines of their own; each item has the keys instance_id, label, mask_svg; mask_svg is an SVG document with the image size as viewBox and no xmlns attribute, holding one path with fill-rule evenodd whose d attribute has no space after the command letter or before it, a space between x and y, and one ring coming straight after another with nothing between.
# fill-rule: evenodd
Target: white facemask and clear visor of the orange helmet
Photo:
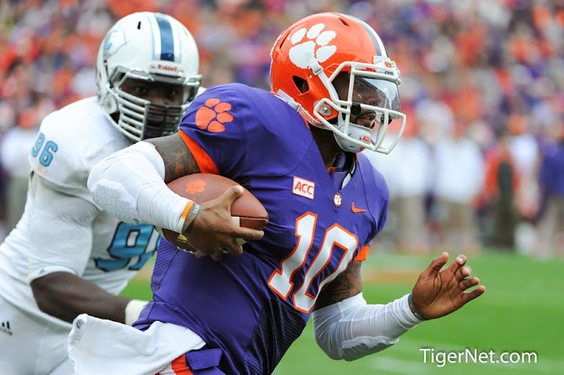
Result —
<instances>
[{"instance_id":1,"label":"white facemask and clear visor of the orange helmet","mask_svg":"<svg viewBox=\"0 0 564 375\"><path fill-rule=\"evenodd\" d=\"M399 70L393 61L378 57L381 60L379 64L350 61L341 63L330 78L327 78L323 71L318 74L330 97L319 100L314 106L313 114L323 128L333 132L339 147L346 152L369 149L388 154L396 147L403 134L406 116L400 112ZM350 73L343 71L344 67L350 67ZM340 73L348 73L349 76L348 90L344 97L339 97L333 86L333 81ZM329 116L331 110L338 112L336 124L329 123L324 118ZM364 118L364 122L367 119L372 121L370 127L355 123L360 118ZM392 121L398 121L398 134L391 144L382 145L388 125Z\"/></svg>"}]
</instances>

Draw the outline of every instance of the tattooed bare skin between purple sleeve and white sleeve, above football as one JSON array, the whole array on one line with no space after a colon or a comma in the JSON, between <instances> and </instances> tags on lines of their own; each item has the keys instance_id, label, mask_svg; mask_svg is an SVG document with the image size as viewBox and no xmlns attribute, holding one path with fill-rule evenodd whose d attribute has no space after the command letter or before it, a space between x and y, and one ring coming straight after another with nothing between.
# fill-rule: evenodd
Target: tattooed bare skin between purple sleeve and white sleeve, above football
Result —
<instances>
[{"instance_id":1,"label":"tattooed bare skin between purple sleeve and white sleeve, above football","mask_svg":"<svg viewBox=\"0 0 564 375\"><path fill-rule=\"evenodd\" d=\"M178 134L149 140L156 147L164 160L164 182L192 173L200 173L196 159Z\"/></svg>"}]
</instances>

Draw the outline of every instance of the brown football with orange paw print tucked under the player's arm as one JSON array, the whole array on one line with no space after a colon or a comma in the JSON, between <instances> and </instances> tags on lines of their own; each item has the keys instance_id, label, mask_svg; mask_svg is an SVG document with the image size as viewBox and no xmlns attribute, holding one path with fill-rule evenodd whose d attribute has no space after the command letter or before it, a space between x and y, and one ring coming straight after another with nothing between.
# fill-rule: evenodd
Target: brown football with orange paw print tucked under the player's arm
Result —
<instances>
[{"instance_id":1,"label":"brown football with orange paw print tucked under the player's arm","mask_svg":"<svg viewBox=\"0 0 564 375\"><path fill-rule=\"evenodd\" d=\"M229 178L214 175L212 173L194 173L180 177L167 184L168 188L176 194L193 200L198 204L216 199L223 194L229 187L239 185ZM231 218L238 226L262 230L269 221L269 214L252 193L243 187L243 194L240 195L231 205ZM188 245L186 238L172 230L158 228L164 238L172 242L181 250L192 252L194 249ZM243 245L245 240L238 238L239 245Z\"/></svg>"}]
</instances>

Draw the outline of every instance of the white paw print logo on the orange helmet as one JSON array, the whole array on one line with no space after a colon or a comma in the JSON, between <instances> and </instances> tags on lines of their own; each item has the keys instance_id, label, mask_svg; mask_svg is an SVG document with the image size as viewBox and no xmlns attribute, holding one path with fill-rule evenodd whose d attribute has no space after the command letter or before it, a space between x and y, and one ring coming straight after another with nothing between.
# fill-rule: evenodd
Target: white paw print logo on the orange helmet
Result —
<instances>
[{"instance_id":1,"label":"white paw print logo on the orange helmet","mask_svg":"<svg viewBox=\"0 0 564 375\"><path fill-rule=\"evenodd\" d=\"M320 63L323 63L335 54L337 46L328 44L331 40L335 39L337 33L331 30L323 31L324 27L325 25L323 23L313 25L309 30L302 27L292 35L290 42L294 44L294 47L290 48L288 55L290 56L290 61L292 61L295 66L302 69L308 67L308 52ZM304 37L309 40L302 42Z\"/></svg>"}]
</instances>

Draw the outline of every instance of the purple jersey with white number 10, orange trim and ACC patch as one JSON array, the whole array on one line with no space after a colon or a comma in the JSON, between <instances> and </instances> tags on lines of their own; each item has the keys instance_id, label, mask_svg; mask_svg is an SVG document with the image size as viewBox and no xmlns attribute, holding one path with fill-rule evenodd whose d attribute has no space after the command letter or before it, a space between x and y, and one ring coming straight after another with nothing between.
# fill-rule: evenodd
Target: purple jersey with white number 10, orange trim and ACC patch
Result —
<instances>
[{"instance_id":1,"label":"purple jersey with white number 10, orange trim and ACC patch","mask_svg":"<svg viewBox=\"0 0 564 375\"><path fill-rule=\"evenodd\" d=\"M245 186L269 223L261 241L221 262L162 239L154 301L136 326L186 326L223 350L226 373L269 374L302 333L324 285L366 256L386 221L388 187L357 154L352 178L337 188L300 114L245 85L212 87L197 97L180 134L202 173Z\"/></svg>"}]
</instances>

